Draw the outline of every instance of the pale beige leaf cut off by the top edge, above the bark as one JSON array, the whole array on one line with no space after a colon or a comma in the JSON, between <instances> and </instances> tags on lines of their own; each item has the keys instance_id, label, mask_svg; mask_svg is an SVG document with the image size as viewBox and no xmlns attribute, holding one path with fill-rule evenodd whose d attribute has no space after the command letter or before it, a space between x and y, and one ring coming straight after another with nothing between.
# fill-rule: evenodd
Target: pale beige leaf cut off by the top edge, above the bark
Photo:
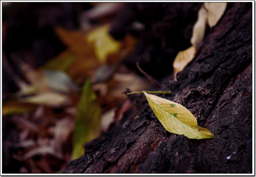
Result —
<instances>
[{"instance_id":1,"label":"pale beige leaf cut off by the top edge, above the bark","mask_svg":"<svg viewBox=\"0 0 256 177\"><path fill-rule=\"evenodd\" d=\"M204 3L204 7L208 10L207 19L208 24L211 28L218 23L218 21L224 14L227 3Z\"/></svg>"}]
</instances>

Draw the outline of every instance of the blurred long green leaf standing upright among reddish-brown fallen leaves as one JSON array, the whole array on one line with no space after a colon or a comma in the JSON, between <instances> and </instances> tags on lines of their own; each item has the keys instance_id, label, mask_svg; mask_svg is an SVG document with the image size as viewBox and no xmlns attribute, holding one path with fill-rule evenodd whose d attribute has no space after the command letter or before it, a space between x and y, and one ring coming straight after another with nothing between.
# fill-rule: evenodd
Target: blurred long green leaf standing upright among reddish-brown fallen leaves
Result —
<instances>
[{"instance_id":1,"label":"blurred long green leaf standing upright among reddish-brown fallen leaves","mask_svg":"<svg viewBox=\"0 0 256 177\"><path fill-rule=\"evenodd\" d=\"M100 134L101 110L96 95L88 78L82 87L82 94L77 108L77 116L73 132L72 159L81 157L83 145Z\"/></svg>"}]
</instances>

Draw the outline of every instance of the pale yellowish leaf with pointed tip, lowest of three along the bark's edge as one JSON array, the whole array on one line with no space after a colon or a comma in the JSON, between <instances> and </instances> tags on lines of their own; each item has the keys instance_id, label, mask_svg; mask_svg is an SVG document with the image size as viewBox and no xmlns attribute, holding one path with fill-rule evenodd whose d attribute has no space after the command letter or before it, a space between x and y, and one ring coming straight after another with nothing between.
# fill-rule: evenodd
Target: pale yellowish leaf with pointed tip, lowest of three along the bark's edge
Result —
<instances>
[{"instance_id":1,"label":"pale yellowish leaf with pointed tip, lowest of three along the bark's edge","mask_svg":"<svg viewBox=\"0 0 256 177\"><path fill-rule=\"evenodd\" d=\"M191 46L190 48L180 51L176 58L174 59L173 67L174 67L174 78L176 79L177 73L181 72L186 65L193 60L196 54L196 48Z\"/></svg>"}]
</instances>

